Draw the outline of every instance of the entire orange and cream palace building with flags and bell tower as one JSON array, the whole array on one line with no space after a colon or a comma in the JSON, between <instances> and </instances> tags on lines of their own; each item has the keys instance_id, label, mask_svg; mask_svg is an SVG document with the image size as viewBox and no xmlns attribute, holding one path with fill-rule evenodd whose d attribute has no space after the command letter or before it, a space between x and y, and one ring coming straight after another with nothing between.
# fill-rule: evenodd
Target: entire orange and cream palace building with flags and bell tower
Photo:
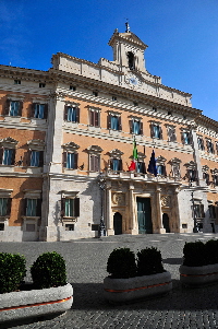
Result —
<instances>
[{"instance_id":1,"label":"entire orange and cream palace building with flags and bell tower","mask_svg":"<svg viewBox=\"0 0 218 329\"><path fill-rule=\"evenodd\" d=\"M146 70L128 24L109 46L0 66L0 240L218 233L218 122Z\"/></svg>"}]
</instances>

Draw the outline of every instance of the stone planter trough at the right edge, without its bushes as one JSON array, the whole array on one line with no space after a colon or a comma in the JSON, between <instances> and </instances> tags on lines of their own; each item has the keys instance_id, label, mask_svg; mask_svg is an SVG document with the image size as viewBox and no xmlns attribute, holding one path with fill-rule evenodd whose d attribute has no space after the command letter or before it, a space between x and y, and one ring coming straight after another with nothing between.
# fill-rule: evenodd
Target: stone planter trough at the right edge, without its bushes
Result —
<instances>
[{"instance_id":1,"label":"stone planter trough at the right edge, without its bushes","mask_svg":"<svg viewBox=\"0 0 218 329\"><path fill-rule=\"evenodd\" d=\"M185 285L201 285L218 281L218 263L203 267L180 267L180 282Z\"/></svg>"}]
</instances>

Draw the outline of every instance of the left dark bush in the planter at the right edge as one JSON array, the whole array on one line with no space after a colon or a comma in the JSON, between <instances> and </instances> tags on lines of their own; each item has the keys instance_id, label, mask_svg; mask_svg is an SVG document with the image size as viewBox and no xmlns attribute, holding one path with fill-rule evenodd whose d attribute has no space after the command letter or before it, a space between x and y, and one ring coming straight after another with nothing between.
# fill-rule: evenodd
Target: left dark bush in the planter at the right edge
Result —
<instances>
[{"instance_id":1,"label":"left dark bush in the planter at the right edge","mask_svg":"<svg viewBox=\"0 0 218 329\"><path fill-rule=\"evenodd\" d=\"M183 265L187 267L202 267L207 265L206 248L203 242L185 243L183 248Z\"/></svg>"}]
</instances>

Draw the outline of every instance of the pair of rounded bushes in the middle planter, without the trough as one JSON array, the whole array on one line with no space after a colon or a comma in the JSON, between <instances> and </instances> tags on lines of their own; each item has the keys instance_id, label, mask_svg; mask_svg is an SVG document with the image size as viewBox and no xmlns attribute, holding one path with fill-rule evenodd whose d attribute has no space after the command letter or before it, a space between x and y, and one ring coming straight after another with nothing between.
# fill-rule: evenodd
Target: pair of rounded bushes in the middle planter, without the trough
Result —
<instances>
[{"instance_id":1,"label":"pair of rounded bushes in the middle planter, without the trough","mask_svg":"<svg viewBox=\"0 0 218 329\"><path fill-rule=\"evenodd\" d=\"M128 279L133 277L152 275L165 272L161 252L150 247L135 255L129 248L114 249L107 263L111 279Z\"/></svg>"}]
</instances>

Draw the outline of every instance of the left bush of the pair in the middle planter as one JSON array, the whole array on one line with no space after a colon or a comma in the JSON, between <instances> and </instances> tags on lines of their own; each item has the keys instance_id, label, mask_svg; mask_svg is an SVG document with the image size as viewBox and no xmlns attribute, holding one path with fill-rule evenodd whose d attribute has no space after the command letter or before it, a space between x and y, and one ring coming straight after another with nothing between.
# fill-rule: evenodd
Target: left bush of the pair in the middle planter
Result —
<instances>
[{"instance_id":1,"label":"left bush of the pair in the middle planter","mask_svg":"<svg viewBox=\"0 0 218 329\"><path fill-rule=\"evenodd\" d=\"M107 263L107 271L113 279L128 279L136 275L135 255L130 248L114 249Z\"/></svg>"}]
</instances>

